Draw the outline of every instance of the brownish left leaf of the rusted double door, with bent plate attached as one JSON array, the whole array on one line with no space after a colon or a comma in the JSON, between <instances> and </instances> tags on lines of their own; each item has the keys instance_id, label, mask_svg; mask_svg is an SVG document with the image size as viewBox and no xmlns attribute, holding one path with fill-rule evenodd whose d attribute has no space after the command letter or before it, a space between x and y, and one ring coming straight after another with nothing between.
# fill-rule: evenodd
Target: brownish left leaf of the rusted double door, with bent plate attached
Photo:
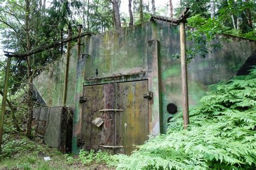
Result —
<instances>
[{"instance_id":1,"label":"brownish left leaf of the rusted double door, with bent plate attached","mask_svg":"<svg viewBox=\"0 0 256 170\"><path fill-rule=\"evenodd\" d=\"M85 149L98 149L99 145L111 145L114 141L113 113L99 112L114 106L114 84L84 87L82 116L82 138ZM97 127L91 123L96 117L104 119L104 125ZM112 142L112 143L111 143Z\"/></svg>"}]
</instances>

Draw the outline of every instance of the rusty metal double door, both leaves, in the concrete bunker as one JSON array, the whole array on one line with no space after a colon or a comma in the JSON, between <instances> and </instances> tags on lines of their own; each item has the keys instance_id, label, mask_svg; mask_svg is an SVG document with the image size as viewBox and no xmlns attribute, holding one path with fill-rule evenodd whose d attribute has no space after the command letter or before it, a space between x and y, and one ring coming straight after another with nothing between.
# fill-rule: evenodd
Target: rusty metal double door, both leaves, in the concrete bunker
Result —
<instances>
[{"instance_id":1,"label":"rusty metal double door, both leaves, in the concrete bunker","mask_svg":"<svg viewBox=\"0 0 256 170\"><path fill-rule=\"evenodd\" d=\"M130 154L144 144L149 135L147 89L147 80L84 86L82 148ZM98 127L92 121L99 118L103 124Z\"/></svg>"}]
</instances>

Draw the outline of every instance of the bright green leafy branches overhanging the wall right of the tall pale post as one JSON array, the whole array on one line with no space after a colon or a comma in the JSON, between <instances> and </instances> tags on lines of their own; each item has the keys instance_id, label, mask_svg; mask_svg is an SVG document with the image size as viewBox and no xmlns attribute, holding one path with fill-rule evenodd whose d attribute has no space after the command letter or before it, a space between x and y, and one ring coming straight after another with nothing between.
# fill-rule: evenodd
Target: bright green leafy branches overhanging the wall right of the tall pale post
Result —
<instances>
[{"instance_id":1,"label":"bright green leafy branches overhanging the wall right of the tall pale post","mask_svg":"<svg viewBox=\"0 0 256 170\"><path fill-rule=\"evenodd\" d=\"M241 33L240 30L225 26L221 17L206 19L201 15L194 15L188 18L187 22L188 29L186 33L190 42L186 49L188 62L194 57L205 57L209 51L221 48L221 42L228 41L225 37L220 38L220 35L223 34L256 40L255 31ZM219 38L219 41L216 38Z\"/></svg>"}]
</instances>

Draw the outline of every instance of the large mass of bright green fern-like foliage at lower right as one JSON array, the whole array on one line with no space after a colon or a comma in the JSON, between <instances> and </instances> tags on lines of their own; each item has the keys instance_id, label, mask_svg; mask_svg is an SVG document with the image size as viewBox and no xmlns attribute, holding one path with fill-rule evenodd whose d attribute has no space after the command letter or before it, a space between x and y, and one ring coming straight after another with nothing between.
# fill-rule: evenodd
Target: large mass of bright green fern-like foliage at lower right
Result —
<instances>
[{"instance_id":1,"label":"large mass of bright green fern-like foliage at lower right","mask_svg":"<svg viewBox=\"0 0 256 170\"><path fill-rule=\"evenodd\" d=\"M114 155L119 169L255 169L256 69L211 86L190 111L183 130L179 114L167 134L138 146L131 156ZM112 164L113 165L113 164Z\"/></svg>"}]
</instances>

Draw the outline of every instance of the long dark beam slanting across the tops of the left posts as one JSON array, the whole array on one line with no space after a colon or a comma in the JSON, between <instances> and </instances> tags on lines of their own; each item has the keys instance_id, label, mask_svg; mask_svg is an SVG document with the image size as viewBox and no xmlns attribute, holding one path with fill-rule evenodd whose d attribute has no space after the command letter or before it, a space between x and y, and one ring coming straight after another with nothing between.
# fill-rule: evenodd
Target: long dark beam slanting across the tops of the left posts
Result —
<instances>
[{"instance_id":1,"label":"long dark beam slanting across the tops of the left posts","mask_svg":"<svg viewBox=\"0 0 256 170\"><path fill-rule=\"evenodd\" d=\"M35 55L38 52L42 52L45 50L50 50L53 47L57 47L62 45L62 43L68 43L71 42L72 40L76 40L79 37L85 37L85 36L91 36L93 35L93 33L88 33L88 32L83 32L80 35L76 35L76 36L72 36L72 37L68 37L68 38L63 38L60 40L57 40L56 42L52 43L52 44L44 44L44 45L40 45L38 47L33 48L32 50L26 51L24 53L17 53L17 52L10 52L10 51L4 51L4 56L6 57L18 57L18 58L22 58L22 57L28 57L31 55Z\"/></svg>"}]
</instances>

